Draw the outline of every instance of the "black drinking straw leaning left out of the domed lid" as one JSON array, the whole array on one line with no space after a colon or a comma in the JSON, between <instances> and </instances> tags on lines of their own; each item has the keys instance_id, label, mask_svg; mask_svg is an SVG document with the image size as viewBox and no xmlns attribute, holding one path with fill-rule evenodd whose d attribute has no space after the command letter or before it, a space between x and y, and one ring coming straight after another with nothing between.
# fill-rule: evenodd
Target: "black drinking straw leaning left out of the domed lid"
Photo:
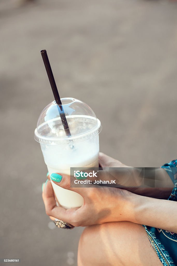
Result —
<instances>
[{"instance_id":1,"label":"black drinking straw leaning left out of the domed lid","mask_svg":"<svg viewBox=\"0 0 177 266\"><path fill-rule=\"evenodd\" d=\"M48 78L49 78L49 82L50 82L50 86L52 88L52 92L53 92L53 95L54 95L54 98L55 98L55 102L57 103L57 106L58 106L58 110L59 110L59 114L60 114L60 117L61 117L61 120L62 120L64 131L66 133L66 136L70 137L71 136L70 129L69 129L69 126L68 126L68 123L67 123L67 120L66 120L66 116L65 116L64 110L63 110L63 106L62 106L62 102L61 102L61 99L60 99L60 96L59 96L59 93L58 93L57 85L55 83L55 79L54 79L54 76L53 76L53 73L52 73L52 69L51 69L51 66L50 66L50 62L49 62L49 58L48 58L48 55L47 55L47 51L46 50L42 50L41 51L41 56L42 56L42 59L44 61L45 69L46 69L46 72L47 72L47 75L48 75Z\"/></svg>"}]
</instances>

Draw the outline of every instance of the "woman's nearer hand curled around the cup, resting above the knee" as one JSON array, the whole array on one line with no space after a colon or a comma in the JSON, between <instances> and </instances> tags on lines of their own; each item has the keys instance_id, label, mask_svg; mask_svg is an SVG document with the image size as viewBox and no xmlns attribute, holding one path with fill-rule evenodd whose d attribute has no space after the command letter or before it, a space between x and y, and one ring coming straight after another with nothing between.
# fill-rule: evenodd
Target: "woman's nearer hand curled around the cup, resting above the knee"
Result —
<instances>
[{"instance_id":1,"label":"woman's nearer hand curled around the cup, resting above the knee","mask_svg":"<svg viewBox=\"0 0 177 266\"><path fill-rule=\"evenodd\" d=\"M71 179L73 182L75 179ZM44 200L46 214L53 220L54 217L74 226L88 226L113 221L131 220L132 193L118 188L89 187L71 188L70 176L62 174L60 183L56 185L64 189L79 193L84 198L84 203L79 208L64 209L57 206L54 192L48 181L43 189L42 198Z\"/></svg>"}]
</instances>

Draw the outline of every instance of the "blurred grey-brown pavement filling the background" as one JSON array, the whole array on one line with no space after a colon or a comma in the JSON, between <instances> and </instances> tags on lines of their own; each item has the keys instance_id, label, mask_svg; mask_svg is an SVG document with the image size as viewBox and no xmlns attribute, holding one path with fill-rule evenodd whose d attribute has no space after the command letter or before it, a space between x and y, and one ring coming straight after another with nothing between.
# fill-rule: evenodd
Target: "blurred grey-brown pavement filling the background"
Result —
<instances>
[{"instance_id":1,"label":"blurred grey-brown pavement filling the background","mask_svg":"<svg viewBox=\"0 0 177 266\"><path fill-rule=\"evenodd\" d=\"M0 1L0 258L76 266L83 230L50 229L41 198L47 168L33 134L53 95L40 50L61 97L101 120L100 151L159 167L177 158L176 26L169 1Z\"/></svg>"}]
</instances>

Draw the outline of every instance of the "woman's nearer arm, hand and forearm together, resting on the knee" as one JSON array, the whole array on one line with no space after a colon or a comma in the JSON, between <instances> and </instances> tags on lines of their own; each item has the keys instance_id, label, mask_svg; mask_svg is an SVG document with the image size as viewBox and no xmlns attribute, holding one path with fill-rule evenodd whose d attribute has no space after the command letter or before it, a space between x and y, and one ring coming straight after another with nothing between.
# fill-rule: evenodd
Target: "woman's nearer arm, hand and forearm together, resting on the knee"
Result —
<instances>
[{"instance_id":1,"label":"woman's nearer arm, hand and forearm together, resting on the knee","mask_svg":"<svg viewBox=\"0 0 177 266\"><path fill-rule=\"evenodd\" d=\"M84 198L80 208L64 209L56 206L51 182L44 187L42 197L46 214L74 226L88 226L106 222L130 221L177 233L177 202L159 200L109 187L74 188L74 178L63 174L62 180L50 176L56 185L79 193ZM61 176L61 175L60 175Z\"/></svg>"}]
</instances>

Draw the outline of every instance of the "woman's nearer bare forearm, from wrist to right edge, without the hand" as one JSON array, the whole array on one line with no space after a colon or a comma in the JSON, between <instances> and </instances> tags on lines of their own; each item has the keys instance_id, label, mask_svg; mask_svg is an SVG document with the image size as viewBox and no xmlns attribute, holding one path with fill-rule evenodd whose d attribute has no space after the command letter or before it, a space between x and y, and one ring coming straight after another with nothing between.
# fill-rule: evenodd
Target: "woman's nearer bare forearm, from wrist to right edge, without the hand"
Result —
<instances>
[{"instance_id":1,"label":"woman's nearer bare forearm, from wrist to right edge, without the hand","mask_svg":"<svg viewBox=\"0 0 177 266\"><path fill-rule=\"evenodd\" d=\"M130 221L177 233L177 202L131 195Z\"/></svg>"}]
</instances>

